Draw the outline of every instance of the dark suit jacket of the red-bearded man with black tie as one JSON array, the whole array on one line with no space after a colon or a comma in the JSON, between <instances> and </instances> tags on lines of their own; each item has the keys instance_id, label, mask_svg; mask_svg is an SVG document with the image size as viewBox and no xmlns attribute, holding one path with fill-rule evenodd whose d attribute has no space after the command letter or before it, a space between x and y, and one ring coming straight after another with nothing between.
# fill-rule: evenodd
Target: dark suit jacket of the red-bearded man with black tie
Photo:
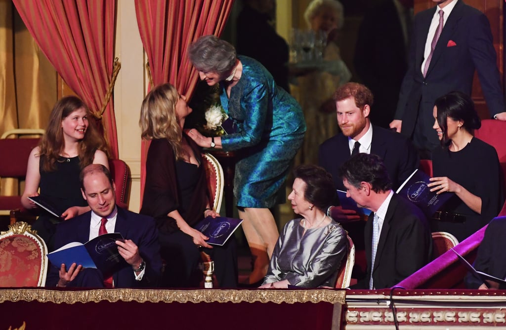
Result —
<instances>
[{"instance_id":1,"label":"dark suit jacket of the red-bearded man with black tie","mask_svg":"<svg viewBox=\"0 0 506 330\"><path fill-rule=\"evenodd\" d=\"M394 190L418 168L418 154L411 142L399 133L372 125L371 154L383 159ZM332 175L335 188L345 190L338 172L351 158L348 137L342 133L332 136L320 145L318 164ZM334 204L337 205L337 204Z\"/></svg>"}]
</instances>

